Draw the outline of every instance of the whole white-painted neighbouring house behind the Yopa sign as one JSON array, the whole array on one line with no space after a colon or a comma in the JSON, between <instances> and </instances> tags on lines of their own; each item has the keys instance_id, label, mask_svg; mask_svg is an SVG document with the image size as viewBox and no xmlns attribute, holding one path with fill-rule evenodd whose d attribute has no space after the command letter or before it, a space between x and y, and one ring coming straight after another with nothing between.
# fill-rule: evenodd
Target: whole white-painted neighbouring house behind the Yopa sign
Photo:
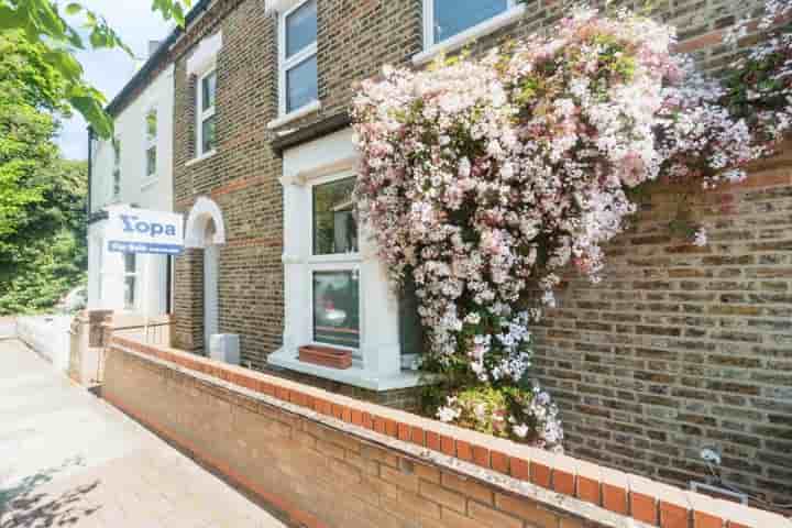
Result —
<instances>
[{"instance_id":1,"label":"whole white-painted neighbouring house behind the Yopa sign","mask_svg":"<svg viewBox=\"0 0 792 528\"><path fill-rule=\"evenodd\" d=\"M172 257L110 252L106 233L109 208L173 210L174 68L146 66L110 105L112 141L91 141L88 308L156 316L172 311Z\"/></svg>"}]
</instances>

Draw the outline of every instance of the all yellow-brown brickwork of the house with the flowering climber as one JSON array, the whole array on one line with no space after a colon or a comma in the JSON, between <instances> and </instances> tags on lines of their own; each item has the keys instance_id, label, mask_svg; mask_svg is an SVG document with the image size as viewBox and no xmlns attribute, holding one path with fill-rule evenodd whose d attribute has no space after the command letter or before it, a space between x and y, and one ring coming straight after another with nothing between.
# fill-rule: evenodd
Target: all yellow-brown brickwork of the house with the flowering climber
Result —
<instances>
[{"instance_id":1,"label":"all yellow-brown brickwork of the house with the flowering climber","mask_svg":"<svg viewBox=\"0 0 792 528\"><path fill-rule=\"evenodd\" d=\"M675 24L680 48L717 73L729 57L723 28L759 3L667 0L652 15ZM524 21L479 48L547 28L564 9L528 2ZM222 209L220 331L240 334L243 364L258 370L283 332L282 164L273 141L344 113L354 81L386 63L409 65L421 50L420 0L319 0L318 22L322 109L280 131L267 130L277 117L277 38L265 2L219 0L172 52L175 209L187 212L199 196ZM194 80L185 65L216 31L223 34L218 152L187 164ZM789 167L759 172L757 187L697 198L694 216L711 226L710 246L672 239L671 195L654 193L609 248L606 282L570 277L560 308L538 329L536 361L561 404L570 452L685 485L707 475L698 451L713 446L733 483L771 499L792 495L782 457L792 449L792 183ZM176 264L176 344L186 350L204 346L201 258L190 251Z\"/></svg>"}]
</instances>

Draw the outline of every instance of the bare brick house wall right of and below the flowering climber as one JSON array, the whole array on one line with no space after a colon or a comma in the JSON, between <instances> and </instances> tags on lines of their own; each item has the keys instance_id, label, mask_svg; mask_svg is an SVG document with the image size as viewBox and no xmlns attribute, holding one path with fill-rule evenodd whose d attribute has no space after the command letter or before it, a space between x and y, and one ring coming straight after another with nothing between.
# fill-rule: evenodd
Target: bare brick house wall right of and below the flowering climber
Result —
<instances>
[{"instance_id":1,"label":"bare brick house wall right of and below the flowering climber","mask_svg":"<svg viewBox=\"0 0 792 528\"><path fill-rule=\"evenodd\" d=\"M559 400L565 446L686 486L723 453L723 475L792 497L792 150L748 182L690 197L697 248L672 234L682 193L641 199L606 249L606 278L569 277L537 329L535 372Z\"/></svg>"}]
</instances>

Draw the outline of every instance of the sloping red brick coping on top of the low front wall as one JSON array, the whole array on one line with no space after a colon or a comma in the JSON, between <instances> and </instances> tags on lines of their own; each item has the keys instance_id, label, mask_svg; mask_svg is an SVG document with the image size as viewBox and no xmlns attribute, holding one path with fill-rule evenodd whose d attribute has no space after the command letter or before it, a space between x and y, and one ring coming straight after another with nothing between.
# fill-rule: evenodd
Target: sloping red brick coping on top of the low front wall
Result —
<instances>
[{"instance_id":1,"label":"sloping red brick coping on top of the low front wall","mask_svg":"<svg viewBox=\"0 0 792 528\"><path fill-rule=\"evenodd\" d=\"M792 528L781 515L180 350L120 336L111 346L603 526Z\"/></svg>"}]
</instances>

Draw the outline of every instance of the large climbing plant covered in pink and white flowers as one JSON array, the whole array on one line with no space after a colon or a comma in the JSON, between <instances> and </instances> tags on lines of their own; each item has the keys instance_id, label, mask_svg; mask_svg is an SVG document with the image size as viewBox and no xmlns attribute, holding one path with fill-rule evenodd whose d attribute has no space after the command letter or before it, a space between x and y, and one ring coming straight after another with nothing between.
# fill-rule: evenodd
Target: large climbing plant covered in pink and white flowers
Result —
<instances>
[{"instance_id":1,"label":"large climbing plant covered in pink and white flowers","mask_svg":"<svg viewBox=\"0 0 792 528\"><path fill-rule=\"evenodd\" d=\"M789 129L789 58L774 55L789 40L745 63L772 57L765 80L744 69L725 84L674 42L628 11L578 9L484 57L362 84L355 196L391 278L417 285L422 366L440 380L428 404L443 421L558 446L557 409L530 380L529 327L554 306L561 272L600 280L631 189L740 182ZM773 86L740 91L747 78ZM745 102L755 97L774 103Z\"/></svg>"}]
</instances>

